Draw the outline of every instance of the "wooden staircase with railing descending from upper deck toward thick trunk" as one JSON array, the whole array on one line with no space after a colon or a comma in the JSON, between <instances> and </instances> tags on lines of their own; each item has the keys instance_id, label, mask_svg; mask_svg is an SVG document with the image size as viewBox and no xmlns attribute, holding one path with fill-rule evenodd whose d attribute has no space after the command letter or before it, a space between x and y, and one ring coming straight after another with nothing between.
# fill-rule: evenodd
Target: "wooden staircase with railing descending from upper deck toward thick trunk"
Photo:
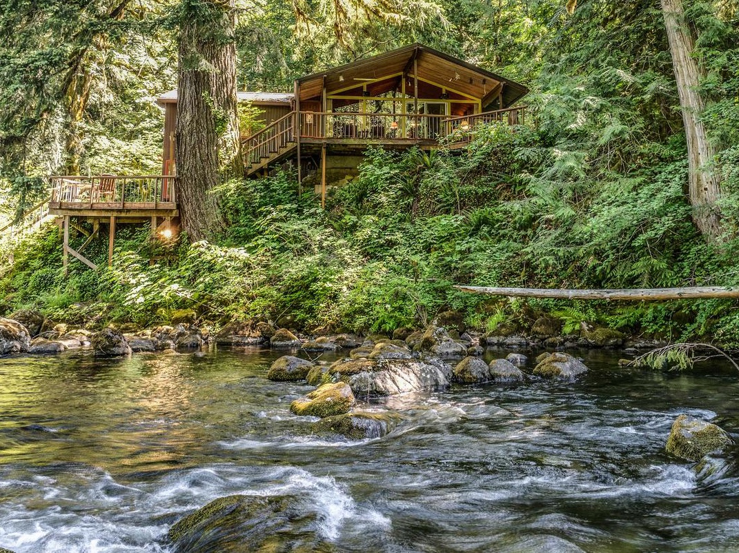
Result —
<instances>
[{"instance_id":1,"label":"wooden staircase with railing descending from upper deck toward thick trunk","mask_svg":"<svg viewBox=\"0 0 739 553\"><path fill-rule=\"evenodd\" d=\"M296 149L296 119L296 111L290 111L242 142L247 176L285 159Z\"/></svg>"}]
</instances>

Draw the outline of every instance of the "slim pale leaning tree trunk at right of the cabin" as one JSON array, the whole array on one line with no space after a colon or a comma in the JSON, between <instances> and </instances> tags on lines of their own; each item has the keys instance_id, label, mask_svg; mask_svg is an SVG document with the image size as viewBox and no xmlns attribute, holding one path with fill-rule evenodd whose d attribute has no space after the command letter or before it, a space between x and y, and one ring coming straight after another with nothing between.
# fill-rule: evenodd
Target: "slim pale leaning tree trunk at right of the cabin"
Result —
<instances>
[{"instance_id":1,"label":"slim pale leaning tree trunk at right of the cabin","mask_svg":"<svg viewBox=\"0 0 739 553\"><path fill-rule=\"evenodd\" d=\"M712 240L721 233L721 212L717 204L721 195L721 177L712 171L715 149L709 143L701 121L705 103L698 86L704 75L693 57L695 40L685 21L682 0L661 2L683 113L688 148L688 196L693 207L693 221L698 230Z\"/></svg>"}]
</instances>

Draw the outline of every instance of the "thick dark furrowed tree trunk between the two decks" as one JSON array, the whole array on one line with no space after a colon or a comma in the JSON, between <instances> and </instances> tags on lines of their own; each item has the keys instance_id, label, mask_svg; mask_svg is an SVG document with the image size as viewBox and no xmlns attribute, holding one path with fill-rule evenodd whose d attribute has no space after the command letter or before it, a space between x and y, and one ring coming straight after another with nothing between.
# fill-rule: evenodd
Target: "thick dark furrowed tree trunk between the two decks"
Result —
<instances>
[{"instance_id":1,"label":"thick dark furrowed tree trunk between the two decks","mask_svg":"<svg viewBox=\"0 0 739 553\"><path fill-rule=\"evenodd\" d=\"M183 0L175 125L177 199L191 241L223 229L214 189L243 176L234 0Z\"/></svg>"}]
</instances>

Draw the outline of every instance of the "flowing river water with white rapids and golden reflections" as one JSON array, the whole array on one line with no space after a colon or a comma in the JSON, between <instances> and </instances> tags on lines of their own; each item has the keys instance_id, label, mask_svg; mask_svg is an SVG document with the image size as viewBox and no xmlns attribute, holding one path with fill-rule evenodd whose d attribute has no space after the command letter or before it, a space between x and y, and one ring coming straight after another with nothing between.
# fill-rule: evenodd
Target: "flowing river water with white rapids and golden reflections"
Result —
<instances>
[{"instance_id":1,"label":"flowing river water with white rapids and golden reflections","mask_svg":"<svg viewBox=\"0 0 739 553\"><path fill-rule=\"evenodd\" d=\"M664 453L679 413L739 429L738 375L581 354L576 383L374 403L402 422L358 443L310 436L289 405L311 388L265 379L269 351L5 358L0 547L167 552L171 523L245 493L304 498L339 552L739 551L735 450Z\"/></svg>"}]
</instances>

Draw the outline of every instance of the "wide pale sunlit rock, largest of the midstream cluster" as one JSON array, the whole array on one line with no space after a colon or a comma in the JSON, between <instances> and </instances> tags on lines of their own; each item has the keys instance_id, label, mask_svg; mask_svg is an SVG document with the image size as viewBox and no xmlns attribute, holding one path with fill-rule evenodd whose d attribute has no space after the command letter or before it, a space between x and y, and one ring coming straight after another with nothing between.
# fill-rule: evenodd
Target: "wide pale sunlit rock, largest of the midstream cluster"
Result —
<instances>
[{"instance_id":1,"label":"wide pale sunlit rock, largest of the midstream cluster","mask_svg":"<svg viewBox=\"0 0 739 553\"><path fill-rule=\"evenodd\" d=\"M330 382L347 382L355 395L392 396L449 388L443 370L415 359L350 359L337 361L326 373Z\"/></svg>"}]
</instances>

